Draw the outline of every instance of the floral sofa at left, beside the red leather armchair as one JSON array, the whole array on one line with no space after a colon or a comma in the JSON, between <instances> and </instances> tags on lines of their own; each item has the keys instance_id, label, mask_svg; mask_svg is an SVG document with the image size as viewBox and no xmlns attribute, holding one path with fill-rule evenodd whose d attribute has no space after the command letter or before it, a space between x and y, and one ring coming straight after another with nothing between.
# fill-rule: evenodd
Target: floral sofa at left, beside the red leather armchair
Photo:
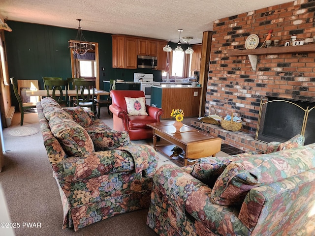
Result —
<instances>
[{"instance_id":1,"label":"floral sofa at left, beside the red leather armchair","mask_svg":"<svg viewBox=\"0 0 315 236\"><path fill-rule=\"evenodd\" d=\"M149 207L157 153L132 145L91 111L37 102L39 125L63 203L63 229Z\"/></svg>"}]
</instances>

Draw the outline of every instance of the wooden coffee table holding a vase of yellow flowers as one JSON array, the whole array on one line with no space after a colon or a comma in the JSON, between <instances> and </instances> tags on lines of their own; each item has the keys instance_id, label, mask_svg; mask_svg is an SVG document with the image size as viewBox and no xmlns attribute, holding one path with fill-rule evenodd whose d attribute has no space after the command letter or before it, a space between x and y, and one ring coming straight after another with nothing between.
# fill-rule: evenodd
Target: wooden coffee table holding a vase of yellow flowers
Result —
<instances>
[{"instance_id":1,"label":"wooden coffee table holding a vase of yellow flowers","mask_svg":"<svg viewBox=\"0 0 315 236\"><path fill-rule=\"evenodd\" d=\"M183 125L179 132L173 126L174 121L162 121L147 124L153 130L153 147L167 156L172 155L174 146L180 147L185 153L180 155L179 161L184 166L193 164L195 159L215 156L221 150L221 138L213 137L207 133ZM157 145L157 136L167 142Z\"/></svg>"}]
</instances>

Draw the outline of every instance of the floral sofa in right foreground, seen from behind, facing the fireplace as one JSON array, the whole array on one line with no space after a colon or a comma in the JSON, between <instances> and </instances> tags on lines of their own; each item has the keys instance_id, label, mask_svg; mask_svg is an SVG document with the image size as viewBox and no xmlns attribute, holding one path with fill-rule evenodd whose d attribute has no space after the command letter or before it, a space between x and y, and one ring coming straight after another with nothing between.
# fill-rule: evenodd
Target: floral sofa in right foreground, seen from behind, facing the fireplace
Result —
<instances>
[{"instance_id":1,"label":"floral sofa in right foreground, seen from behind, facing the fireplace","mask_svg":"<svg viewBox=\"0 0 315 236\"><path fill-rule=\"evenodd\" d=\"M160 236L314 236L315 144L161 166L147 224Z\"/></svg>"}]
</instances>

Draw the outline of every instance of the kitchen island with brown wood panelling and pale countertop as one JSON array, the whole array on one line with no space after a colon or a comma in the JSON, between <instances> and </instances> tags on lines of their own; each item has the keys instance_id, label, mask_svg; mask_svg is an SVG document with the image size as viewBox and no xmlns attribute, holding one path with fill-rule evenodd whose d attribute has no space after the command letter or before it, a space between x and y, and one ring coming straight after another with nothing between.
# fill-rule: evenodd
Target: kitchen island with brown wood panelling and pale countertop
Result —
<instances>
[{"instance_id":1,"label":"kitchen island with brown wood panelling and pale countertop","mask_svg":"<svg viewBox=\"0 0 315 236\"><path fill-rule=\"evenodd\" d=\"M161 119L170 119L173 109L183 109L184 117L198 117L201 87L181 84L152 86L151 104L162 108Z\"/></svg>"}]
</instances>

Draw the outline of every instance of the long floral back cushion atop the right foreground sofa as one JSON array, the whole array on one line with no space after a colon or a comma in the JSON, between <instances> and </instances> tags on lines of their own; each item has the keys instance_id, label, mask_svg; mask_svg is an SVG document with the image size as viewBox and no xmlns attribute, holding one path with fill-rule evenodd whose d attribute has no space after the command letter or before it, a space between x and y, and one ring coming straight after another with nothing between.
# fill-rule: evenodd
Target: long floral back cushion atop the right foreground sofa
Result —
<instances>
[{"instance_id":1,"label":"long floral back cushion atop the right foreground sofa","mask_svg":"<svg viewBox=\"0 0 315 236\"><path fill-rule=\"evenodd\" d=\"M239 205L254 187L277 182L315 168L315 150L307 146L252 155L231 162L216 180L214 203Z\"/></svg>"}]
</instances>

